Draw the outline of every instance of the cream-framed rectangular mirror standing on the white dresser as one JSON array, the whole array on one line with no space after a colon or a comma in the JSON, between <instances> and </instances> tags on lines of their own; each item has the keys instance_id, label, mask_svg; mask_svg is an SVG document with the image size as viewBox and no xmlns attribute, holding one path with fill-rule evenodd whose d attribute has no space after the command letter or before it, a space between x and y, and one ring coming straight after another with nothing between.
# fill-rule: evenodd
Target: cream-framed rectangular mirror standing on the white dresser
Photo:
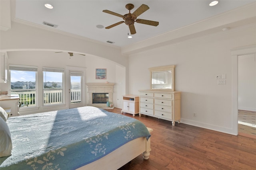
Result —
<instances>
[{"instance_id":1,"label":"cream-framed rectangular mirror standing on the white dresser","mask_svg":"<svg viewBox=\"0 0 256 170\"><path fill-rule=\"evenodd\" d=\"M175 65L148 68L151 75L151 89L174 91Z\"/></svg>"}]
</instances>

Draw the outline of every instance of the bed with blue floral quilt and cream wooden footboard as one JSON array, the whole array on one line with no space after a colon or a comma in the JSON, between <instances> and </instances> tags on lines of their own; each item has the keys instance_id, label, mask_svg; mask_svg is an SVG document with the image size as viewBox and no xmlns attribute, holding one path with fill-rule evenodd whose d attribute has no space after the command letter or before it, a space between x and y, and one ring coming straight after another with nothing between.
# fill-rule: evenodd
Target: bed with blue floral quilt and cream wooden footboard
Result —
<instances>
[{"instance_id":1,"label":"bed with blue floral quilt and cream wooden footboard","mask_svg":"<svg viewBox=\"0 0 256 170\"><path fill-rule=\"evenodd\" d=\"M12 155L0 169L118 169L150 155L150 131L140 121L92 106L10 117Z\"/></svg>"}]
</instances>

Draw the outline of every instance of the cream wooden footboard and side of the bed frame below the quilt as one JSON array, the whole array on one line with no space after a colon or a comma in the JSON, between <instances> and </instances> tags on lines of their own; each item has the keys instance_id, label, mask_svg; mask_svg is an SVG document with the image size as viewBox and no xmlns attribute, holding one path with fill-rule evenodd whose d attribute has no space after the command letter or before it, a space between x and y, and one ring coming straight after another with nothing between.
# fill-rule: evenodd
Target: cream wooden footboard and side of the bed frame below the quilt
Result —
<instances>
[{"instance_id":1,"label":"cream wooden footboard and side of the bed frame below the quilt","mask_svg":"<svg viewBox=\"0 0 256 170\"><path fill-rule=\"evenodd\" d=\"M148 131L151 133L153 129L148 128ZM110 170L117 170L140 154L143 154L143 158L147 160L149 158L150 151L150 138L147 141L146 137L140 137L122 145L99 160L82 166L77 170L100 170L102 169L102 165L104 165L104 167L108 167Z\"/></svg>"}]
</instances>

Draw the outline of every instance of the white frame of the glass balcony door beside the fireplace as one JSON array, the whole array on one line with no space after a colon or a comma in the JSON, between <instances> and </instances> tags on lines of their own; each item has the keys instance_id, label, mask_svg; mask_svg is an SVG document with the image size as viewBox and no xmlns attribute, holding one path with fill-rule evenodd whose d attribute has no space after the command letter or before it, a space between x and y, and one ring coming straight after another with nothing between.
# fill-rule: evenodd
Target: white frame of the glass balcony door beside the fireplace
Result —
<instances>
[{"instance_id":1,"label":"white frame of the glass balcony door beside the fireplace","mask_svg":"<svg viewBox=\"0 0 256 170\"><path fill-rule=\"evenodd\" d=\"M81 106L86 106L86 68L85 67L75 67L75 66L66 66L66 75L67 76L67 96L68 96L68 108L71 108L70 106L72 105L70 103L70 71L74 71L74 72L82 72L83 73L83 78L82 78L82 82L81 82L81 89L83 89L81 91L81 93L83 94L81 96Z\"/></svg>"}]
</instances>

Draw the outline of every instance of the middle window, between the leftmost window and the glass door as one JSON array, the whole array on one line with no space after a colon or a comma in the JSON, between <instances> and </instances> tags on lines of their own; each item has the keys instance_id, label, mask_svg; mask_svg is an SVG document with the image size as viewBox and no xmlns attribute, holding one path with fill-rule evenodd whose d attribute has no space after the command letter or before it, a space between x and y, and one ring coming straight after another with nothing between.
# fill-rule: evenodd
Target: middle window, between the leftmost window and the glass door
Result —
<instances>
[{"instance_id":1,"label":"middle window, between the leftmost window and the glass door","mask_svg":"<svg viewBox=\"0 0 256 170\"><path fill-rule=\"evenodd\" d=\"M63 68L43 67L44 106L63 103Z\"/></svg>"}]
</instances>

